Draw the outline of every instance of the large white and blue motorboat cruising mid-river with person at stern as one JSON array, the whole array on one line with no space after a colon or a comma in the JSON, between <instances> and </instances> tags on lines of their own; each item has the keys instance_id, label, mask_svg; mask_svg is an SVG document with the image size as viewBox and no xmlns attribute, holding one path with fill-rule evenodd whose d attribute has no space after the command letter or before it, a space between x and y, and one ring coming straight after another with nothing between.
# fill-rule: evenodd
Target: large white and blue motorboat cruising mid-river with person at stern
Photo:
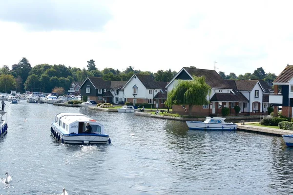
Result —
<instances>
[{"instance_id":1,"label":"large white and blue motorboat cruising mid-river with person at stern","mask_svg":"<svg viewBox=\"0 0 293 195\"><path fill-rule=\"evenodd\" d=\"M92 132L84 133L89 122ZM69 144L101 144L111 143L105 134L104 125L79 113L59 113L51 126L51 133L61 143Z\"/></svg>"}]
</instances>

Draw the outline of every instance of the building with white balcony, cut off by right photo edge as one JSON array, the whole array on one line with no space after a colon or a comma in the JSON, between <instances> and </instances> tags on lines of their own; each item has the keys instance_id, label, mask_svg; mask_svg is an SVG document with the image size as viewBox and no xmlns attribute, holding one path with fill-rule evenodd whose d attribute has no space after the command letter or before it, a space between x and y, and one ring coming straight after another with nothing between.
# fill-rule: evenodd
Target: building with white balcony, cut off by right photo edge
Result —
<instances>
[{"instance_id":1,"label":"building with white balcony, cut off by right photo edge","mask_svg":"<svg viewBox=\"0 0 293 195\"><path fill-rule=\"evenodd\" d=\"M274 106L274 116L277 116L277 107L282 106L282 115L292 117L293 110L293 65L287 65L281 74L272 82L274 93L269 102Z\"/></svg>"}]
</instances>

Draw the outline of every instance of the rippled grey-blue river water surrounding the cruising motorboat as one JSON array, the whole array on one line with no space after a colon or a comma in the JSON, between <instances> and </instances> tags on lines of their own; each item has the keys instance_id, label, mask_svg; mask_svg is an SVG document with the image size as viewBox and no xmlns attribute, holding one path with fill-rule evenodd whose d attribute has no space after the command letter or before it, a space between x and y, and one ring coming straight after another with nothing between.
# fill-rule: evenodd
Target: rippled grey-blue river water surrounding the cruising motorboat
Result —
<instances>
[{"instance_id":1,"label":"rippled grey-blue river water surrounding the cruising motorboat","mask_svg":"<svg viewBox=\"0 0 293 195\"><path fill-rule=\"evenodd\" d=\"M281 195L293 193L293 149L281 137L189 131L185 122L21 101L7 105L1 195ZM64 145L54 116L101 121L111 144ZM25 121L26 119L26 121ZM134 136L131 136L131 135Z\"/></svg>"}]
</instances>

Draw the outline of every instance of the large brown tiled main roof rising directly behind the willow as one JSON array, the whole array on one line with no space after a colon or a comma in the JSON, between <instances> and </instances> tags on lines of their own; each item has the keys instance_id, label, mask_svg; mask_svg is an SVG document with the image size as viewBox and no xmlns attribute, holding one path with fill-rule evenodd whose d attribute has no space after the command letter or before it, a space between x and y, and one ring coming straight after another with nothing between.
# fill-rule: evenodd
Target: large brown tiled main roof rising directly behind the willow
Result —
<instances>
[{"instance_id":1,"label":"large brown tiled main roof rising directly behind the willow","mask_svg":"<svg viewBox=\"0 0 293 195\"><path fill-rule=\"evenodd\" d=\"M198 69L198 68L189 68L184 67L184 69L191 76L206 77L206 83L211 88L220 88L220 89L230 89L230 87L226 84L223 78L215 71L215 70L206 70L206 69Z\"/></svg>"}]
</instances>

